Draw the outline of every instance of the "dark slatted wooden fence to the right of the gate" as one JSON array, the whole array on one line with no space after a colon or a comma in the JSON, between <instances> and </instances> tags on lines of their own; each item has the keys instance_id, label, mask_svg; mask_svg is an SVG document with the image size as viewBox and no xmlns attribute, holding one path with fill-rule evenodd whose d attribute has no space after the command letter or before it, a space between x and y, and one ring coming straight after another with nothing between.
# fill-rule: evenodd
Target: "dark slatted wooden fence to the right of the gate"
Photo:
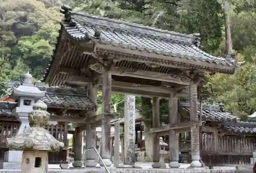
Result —
<instances>
[{"instance_id":1,"label":"dark slatted wooden fence to the right of the gate","mask_svg":"<svg viewBox=\"0 0 256 173\"><path fill-rule=\"evenodd\" d=\"M202 133L200 143L201 159L207 165L250 164L256 140L253 136L218 136L217 150L213 133ZM180 152L189 153L190 141L180 141Z\"/></svg>"}]
</instances>

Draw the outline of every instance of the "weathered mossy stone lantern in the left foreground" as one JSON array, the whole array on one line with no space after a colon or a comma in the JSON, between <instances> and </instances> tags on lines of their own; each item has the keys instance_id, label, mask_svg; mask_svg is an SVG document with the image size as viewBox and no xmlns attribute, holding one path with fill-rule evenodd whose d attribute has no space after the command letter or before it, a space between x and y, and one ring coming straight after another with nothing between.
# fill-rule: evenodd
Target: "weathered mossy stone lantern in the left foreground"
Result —
<instances>
[{"instance_id":1,"label":"weathered mossy stone lantern in the left foreground","mask_svg":"<svg viewBox=\"0 0 256 173\"><path fill-rule=\"evenodd\" d=\"M29 125L13 138L7 138L9 149L23 150L22 173L45 173L48 170L48 152L59 152L63 142L56 140L46 129L50 114L47 105L39 100L29 113Z\"/></svg>"}]
</instances>

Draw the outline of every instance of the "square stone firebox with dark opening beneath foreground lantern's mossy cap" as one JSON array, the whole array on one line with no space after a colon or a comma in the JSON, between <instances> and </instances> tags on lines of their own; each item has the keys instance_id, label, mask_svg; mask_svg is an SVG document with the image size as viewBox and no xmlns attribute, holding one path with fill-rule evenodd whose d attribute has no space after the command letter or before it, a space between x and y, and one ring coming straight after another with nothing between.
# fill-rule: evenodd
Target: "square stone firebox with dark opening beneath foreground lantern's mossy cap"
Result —
<instances>
[{"instance_id":1,"label":"square stone firebox with dark opening beneath foreground lantern's mossy cap","mask_svg":"<svg viewBox=\"0 0 256 173\"><path fill-rule=\"evenodd\" d=\"M24 150L22 155L22 173L47 173L48 152L40 150Z\"/></svg>"}]
</instances>

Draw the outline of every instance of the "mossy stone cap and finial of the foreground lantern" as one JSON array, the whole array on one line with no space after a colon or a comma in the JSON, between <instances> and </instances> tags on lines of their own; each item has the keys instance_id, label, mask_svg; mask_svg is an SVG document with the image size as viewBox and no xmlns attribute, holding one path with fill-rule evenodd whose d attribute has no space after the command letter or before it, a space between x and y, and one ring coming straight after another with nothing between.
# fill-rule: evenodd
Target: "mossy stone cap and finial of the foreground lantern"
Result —
<instances>
[{"instance_id":1,"label":"mossy stone cap and finial of the foreground lantern","mask_svg":"<svg viewBox=\"0 0 256 173\"><path fill-rule=\"evenodd\" d=\"M33 111L29 113L30 127L15 137L7 138L7 146L14 150L45 150L59 152L64 143L56 140L46 129L50 114L46 111L47 105L39 100L33 105Z\"/></svg>"}]
</instances>

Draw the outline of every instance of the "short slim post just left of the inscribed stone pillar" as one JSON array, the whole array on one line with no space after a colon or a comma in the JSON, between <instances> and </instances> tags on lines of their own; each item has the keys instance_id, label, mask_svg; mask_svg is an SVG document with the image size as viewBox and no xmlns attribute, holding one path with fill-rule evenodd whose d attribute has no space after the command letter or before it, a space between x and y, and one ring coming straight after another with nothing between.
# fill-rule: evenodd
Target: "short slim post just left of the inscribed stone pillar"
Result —
<instances>
[{"instance_id":1,"label":"short slim post just left of the inscribed stone pillar","mask_svg":"<svg viewBox=\"0 0 256 173\"><path fill-rule=\"evenodd\" d=\"M119 166L119 140L120 140L120 122L115 122L115 138L114 138L114 166Z\"/></svg>"}]
</instances>

